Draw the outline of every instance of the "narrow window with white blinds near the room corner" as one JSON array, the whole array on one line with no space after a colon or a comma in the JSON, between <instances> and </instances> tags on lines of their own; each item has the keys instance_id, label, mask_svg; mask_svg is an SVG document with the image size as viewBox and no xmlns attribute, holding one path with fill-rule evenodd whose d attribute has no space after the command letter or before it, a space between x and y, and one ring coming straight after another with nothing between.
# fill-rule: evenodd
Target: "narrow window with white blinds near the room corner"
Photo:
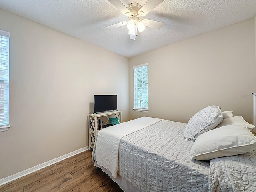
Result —
<instances>
[{"instance_id":1,"label":"narrow window with white blinds near the room corner","mask_svg":"<svg viewBox=\"0 0 256 192\"><path fill-rule=\"evenodd\" d=\"M148 64L133 67L134 110L148 111Z\"/></svg>"}]
</instances>

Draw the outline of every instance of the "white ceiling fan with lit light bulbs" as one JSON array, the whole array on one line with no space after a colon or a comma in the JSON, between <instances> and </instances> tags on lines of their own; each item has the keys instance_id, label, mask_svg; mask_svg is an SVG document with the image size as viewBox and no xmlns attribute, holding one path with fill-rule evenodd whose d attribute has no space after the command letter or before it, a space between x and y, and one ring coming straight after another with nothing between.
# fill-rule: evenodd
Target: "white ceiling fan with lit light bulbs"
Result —
<instances>
[{"instance_id":1,"label":"white ceiling fan with lit light bulbs","mask_svg":"<svg viewBox=\"0 0 256 192\"><path fill-rule=\"evenodd\" d=\"M139 32L144 31L145 27L150 27L154 29L160 29L164 23L149 19L140 20L140 17L146 16L150 11L152 11L156 6L162 3L164 0L148 0L144 6L138 3L131 3L127 7L121 2L121 0L108 0L112 5L118 8L124 15L128 16L129 21L122 21L110 26L106 26L105 29L111 30L124 25L127 25L129 29L128 34L130 39L135 40L137 37L137 30Z\"/></svg>"}]
</instances>

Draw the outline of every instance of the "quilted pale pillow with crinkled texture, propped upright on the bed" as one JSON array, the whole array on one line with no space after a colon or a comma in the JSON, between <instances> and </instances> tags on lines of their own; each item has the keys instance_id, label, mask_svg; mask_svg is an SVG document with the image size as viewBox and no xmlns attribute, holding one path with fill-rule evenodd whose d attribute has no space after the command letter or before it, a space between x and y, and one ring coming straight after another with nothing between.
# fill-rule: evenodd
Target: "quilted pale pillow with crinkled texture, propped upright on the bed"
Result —
<instances>
[{"instance_id":1,"label":"quilted pale pillow with crinkled texture, propped upright on the bed","mask_svg":"<svg viewBox=\"0 0 256 192\"><path fill-rule=\"evenodd\" d=\"M196 140L196 138L213 128L223 120L220 106L208 106L190 118L184 131L184 139Z\"/></svg>"}]
</instances>

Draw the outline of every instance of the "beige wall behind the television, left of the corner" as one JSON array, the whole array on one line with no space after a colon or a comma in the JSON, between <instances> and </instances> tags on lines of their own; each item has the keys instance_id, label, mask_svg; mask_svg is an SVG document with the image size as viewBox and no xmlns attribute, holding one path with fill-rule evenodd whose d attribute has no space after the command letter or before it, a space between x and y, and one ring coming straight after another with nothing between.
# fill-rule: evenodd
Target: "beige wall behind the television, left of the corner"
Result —
<instances>
[{"instance_id":1,"label":"beige wall behind the television, left of the corner","mask_svg":"<svg viewBox=\"0 0 256 192\"><path fill-rule=\"evenodd\" d=\"M128 120L128 58L1 9L10 38L10 125L1 178L88 146L94 94L118 94Z\"/></svg>"}]
</instances>

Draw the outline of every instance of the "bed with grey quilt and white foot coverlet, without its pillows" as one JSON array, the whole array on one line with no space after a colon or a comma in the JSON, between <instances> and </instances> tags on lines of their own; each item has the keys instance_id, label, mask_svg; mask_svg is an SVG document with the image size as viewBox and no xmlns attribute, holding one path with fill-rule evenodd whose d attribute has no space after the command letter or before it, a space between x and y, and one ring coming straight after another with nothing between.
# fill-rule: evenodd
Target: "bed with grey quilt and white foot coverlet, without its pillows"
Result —
<instances>
[{"instance_id":1,"label":"bed with grey quilt and white foot coverlet, without its pillows","mask_svg":"<svg viewBox=\"0 0 256 192\"><path fill-rule=\"evenodd\" d=\"M196 142L184 139L186 128L149 117L105 128L92 160L126 192L256 191L255 145L243 154L196 160Z\"/></svg>"}]
</instances>

